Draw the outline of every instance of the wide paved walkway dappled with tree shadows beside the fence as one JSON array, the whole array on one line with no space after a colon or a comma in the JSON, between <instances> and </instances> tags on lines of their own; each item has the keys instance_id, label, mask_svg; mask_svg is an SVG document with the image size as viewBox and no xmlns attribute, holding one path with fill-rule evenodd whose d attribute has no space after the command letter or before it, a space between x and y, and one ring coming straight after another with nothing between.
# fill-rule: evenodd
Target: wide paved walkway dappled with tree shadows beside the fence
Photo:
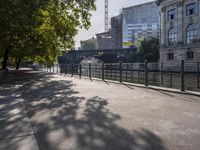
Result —
<instances>
[{"instance_id":1,"label":"wide paved walkway dappled with tree shadows beside the fence","mask_svg":"<svg viewBox=\"0 0 200 150\"><path fill-rule=\"evenodd\" d=\"M0 83L0 150L198 150L200 97L15 71Z\"/></svg>"}]
</instances>

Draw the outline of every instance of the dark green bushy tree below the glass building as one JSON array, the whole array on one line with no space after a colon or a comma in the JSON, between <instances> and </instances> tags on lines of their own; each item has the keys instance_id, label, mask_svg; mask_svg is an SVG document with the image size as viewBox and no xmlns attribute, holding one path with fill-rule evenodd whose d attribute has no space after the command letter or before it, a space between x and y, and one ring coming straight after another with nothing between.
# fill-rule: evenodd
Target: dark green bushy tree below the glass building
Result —
<instances>
[{"instance_id":1,"label":"dark green bushy tree below the glass building","mask_svg":"<svg viewBox=\"0 0 200 150\"><path fill-rule=\"evenodd\" d=\"M156 38L138 40L138 51L130 56L132 62L156 62L159 59L159 40Z\"/></svg>"}]
</instances>

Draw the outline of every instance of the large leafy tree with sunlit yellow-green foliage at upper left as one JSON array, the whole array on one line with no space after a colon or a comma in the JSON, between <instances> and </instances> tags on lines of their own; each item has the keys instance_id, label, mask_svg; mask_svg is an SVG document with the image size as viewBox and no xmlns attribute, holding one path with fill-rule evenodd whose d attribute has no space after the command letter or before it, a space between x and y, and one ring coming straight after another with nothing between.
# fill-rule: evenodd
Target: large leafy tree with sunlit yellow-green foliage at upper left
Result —
<instances>
[{"instance_id":1,"label":"large leafy tree with sunlit yellow-green foliage at upper left","mask_svg":"<svg viewBox=\"0 0 200 150\"><path fill-rule=\"evenodd\" d=\"M73 47L78 29L89 28L91 10L94 0L1 0L2 68L9 57L54 63L61 49Z\"/></svg>"}]
</instances>

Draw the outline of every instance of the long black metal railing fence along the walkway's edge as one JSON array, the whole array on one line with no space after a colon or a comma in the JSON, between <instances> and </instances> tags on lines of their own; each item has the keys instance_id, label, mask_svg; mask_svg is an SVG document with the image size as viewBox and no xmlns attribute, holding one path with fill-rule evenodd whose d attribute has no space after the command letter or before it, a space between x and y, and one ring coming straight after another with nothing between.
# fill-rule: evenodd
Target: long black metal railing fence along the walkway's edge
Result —
<instances>
[{"instance_id":1,"label":"long black metal railing fence along the walkway's edge","mask_svg":"<svg viewBox=\"0 0 200 150\"><path fill-rule=\"evenodd\" d=\"M44 65L37 69L77 75L81 77L100 78L180 89L181 91L200 91L200 63L180 63L165 65L158 63L114 63L114 64L61 64L52 67Z\"/></svg>"}]
</instances>

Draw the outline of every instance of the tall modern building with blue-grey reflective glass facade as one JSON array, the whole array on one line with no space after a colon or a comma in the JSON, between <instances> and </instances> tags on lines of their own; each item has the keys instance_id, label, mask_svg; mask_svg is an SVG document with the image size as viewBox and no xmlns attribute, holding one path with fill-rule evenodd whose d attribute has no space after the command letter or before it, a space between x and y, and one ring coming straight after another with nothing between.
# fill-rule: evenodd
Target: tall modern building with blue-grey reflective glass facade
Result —
<instances>
[{"instance_id":1,"label":"tall modern building with blue-grey reflective glass facade","mask_svg":"<svg viewBox=\"0 0 200 150\"><path fill-rule=\"evenodd\" d=\"M122 10L122 43L133 43L144 37L159 38L159 9L156 1Z\"/></svg>"}]
</instances>

